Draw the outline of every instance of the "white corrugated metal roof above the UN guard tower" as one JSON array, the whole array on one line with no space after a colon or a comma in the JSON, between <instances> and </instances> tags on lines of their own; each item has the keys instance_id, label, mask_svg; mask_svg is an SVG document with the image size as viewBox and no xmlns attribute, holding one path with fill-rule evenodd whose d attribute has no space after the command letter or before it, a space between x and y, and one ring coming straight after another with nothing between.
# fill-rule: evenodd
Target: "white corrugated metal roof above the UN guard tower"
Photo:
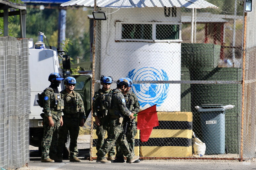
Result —
<instances>
[{"instance_id":1,"label":"white corrugated metal roof above the UN guard tower","mask_svg":"<svg viewBox=\"0 0 256 170\"><path fill-rule=\"evenodd\" d=\"M61 6L94 7L94 0L71 0ZM98 7L108 8L143 8L143 7L185 7L218 8L205 0L97 0Z\"/></svg>"}]
</instances>

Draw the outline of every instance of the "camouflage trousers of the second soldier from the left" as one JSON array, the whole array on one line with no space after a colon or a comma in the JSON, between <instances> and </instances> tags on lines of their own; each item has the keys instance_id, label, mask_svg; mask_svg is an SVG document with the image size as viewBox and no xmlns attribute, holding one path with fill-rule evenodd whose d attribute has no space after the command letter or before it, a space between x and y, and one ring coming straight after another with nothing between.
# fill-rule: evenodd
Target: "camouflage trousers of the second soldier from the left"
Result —
<instances>
[{"instance_id":1,"label":"camouflage trousers of the second soldier from the left","mask_svg":"<svg viewBox=\"0 0 256 170\"><path fill-rule=\"evenodd\" d=\"M78 156L77 138L79 135L80 121L81 121L80 118L66 118L65 115L63 116L63 126L59 128L59 138L58 138L58 147L57 147L58 157L63 156L63 148L64 148L64 144L65 144L68 132L70 137L69 159L72 159Z\"/></svg>"}]
</instances>

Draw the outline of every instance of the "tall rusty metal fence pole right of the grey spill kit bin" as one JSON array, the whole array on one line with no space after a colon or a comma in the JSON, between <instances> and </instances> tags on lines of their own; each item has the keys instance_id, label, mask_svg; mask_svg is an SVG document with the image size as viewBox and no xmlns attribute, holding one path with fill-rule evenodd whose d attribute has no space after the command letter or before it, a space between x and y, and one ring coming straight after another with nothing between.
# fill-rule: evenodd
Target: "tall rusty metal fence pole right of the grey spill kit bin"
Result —
<instances>
[{"instance_id":1,"label":"tall rusty metal fence pole right of the grey spill kit bin","mask_svg":"<svg viewBox=\"0 0 256 170\"><path fill-rule=\"evenodd\" d=\"M244 13L244 32L243 32L243 80L242 80L242 115L241 115L241 156L240 161L243 161L243 115L244 115L244 74L245 74L245 42L246 42L246 21L247 13Z\"/></svg>"}]
</instances>

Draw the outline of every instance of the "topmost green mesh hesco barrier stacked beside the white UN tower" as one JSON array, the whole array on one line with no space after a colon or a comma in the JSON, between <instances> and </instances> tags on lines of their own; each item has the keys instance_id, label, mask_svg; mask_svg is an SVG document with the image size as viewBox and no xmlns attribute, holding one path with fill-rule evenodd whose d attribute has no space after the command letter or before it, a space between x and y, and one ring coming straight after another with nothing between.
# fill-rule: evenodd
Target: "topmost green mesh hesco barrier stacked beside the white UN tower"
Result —
<instances>
[{"instance_id":1,"label":"topmost green mesh hesco barrier stacked beside the white UN tower","mask_svg":"<svg viewBox=\"0 0 256 170\"><path fill-rule=\"evenodd\" d=\"M219 64L220 45L181 43L181 67L215 68Z\"/></svg>"}]
</instances>

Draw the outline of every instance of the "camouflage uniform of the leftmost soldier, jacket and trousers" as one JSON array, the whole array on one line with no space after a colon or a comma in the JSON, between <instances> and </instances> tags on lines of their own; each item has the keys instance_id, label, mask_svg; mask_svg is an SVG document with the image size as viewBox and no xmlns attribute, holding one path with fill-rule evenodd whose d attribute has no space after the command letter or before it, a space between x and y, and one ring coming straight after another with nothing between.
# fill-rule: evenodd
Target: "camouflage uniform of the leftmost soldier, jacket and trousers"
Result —
<instances>
[{"instance_id":1,"label":"camouflage uniform of the leftmost soldier, jacket and trousers","mask_svg":"<svg viewBox=\"0 0 256 170\"><path fill-rule=\"evenodd\" d=\"M41 159L49 158L49 151L52 155L57 154L58 128L60 127L62 108L64 106L60 93L54 93L52 88L46 88L44 91L44 134L41 142ZM49 126L48 116L52 116L54 127Z\"/></svg>"}]
</instances>

